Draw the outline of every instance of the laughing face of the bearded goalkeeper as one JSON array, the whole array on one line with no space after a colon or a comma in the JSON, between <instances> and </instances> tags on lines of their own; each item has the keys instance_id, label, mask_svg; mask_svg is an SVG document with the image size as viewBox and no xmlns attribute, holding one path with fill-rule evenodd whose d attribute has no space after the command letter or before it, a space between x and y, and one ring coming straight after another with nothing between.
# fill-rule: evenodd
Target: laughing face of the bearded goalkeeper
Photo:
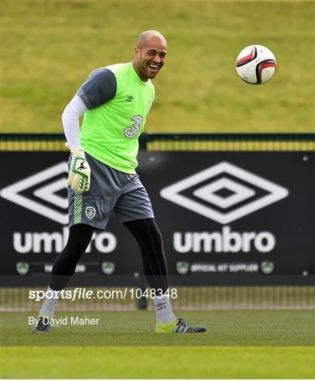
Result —
<instances>
[{"instance_id":1,"label":"laughing face of the bearded goalkeeper","mask_svg":"<svg viewBox=\"0 0 315 381\"><path fill-rule=\"evenodd\" d=\"M166 60L166 42L155 35L147 37L142 47L135 48L138 75L144 81L153 79Z\"/></svg>"}]
</instances>

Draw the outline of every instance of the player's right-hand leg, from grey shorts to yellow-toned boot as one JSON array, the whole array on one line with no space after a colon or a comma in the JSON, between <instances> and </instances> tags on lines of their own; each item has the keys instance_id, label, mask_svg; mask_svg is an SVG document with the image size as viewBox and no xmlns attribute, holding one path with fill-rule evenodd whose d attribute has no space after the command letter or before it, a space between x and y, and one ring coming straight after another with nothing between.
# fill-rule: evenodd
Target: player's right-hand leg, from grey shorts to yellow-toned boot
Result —
<instances>
[{"instance_id":1,"label":"player's right-hand leg, from grey shorts to yellow-toned boot","mask_svg":"<svg viewBox=\"0 0 315 381\"><path fill-rule=\"evenodd\" d=\"M140 245L144 275L149 286L156 291L161 289L162 294L165 294L168 291L166 259L149 195L138 175L120 174L120 177L123 179L123 188L113 212ZM159 292L156 294L159 295ZM204 327L194 327L186 324L183 319L176 319L167 294L162 298L153 298L153 302L156 332L206 332Z\"/></svg>"}]
</instances>

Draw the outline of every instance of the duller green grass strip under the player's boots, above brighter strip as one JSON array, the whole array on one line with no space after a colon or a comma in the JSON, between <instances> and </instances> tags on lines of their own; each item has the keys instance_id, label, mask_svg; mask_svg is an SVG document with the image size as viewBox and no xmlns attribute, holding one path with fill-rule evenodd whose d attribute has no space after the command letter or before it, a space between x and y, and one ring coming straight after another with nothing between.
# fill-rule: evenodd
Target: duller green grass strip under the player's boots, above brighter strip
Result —
<instances>
[{"instance_id":1,"label":"duller green grass strip under the player's boots, above brighter strip","mask_svg":"<svg viewBox=\"0 0 315 381\"><path fill-rule=\"evenodd\" d=\"M1 313L2 343L6 346L311 346L312 310L178 311L193 323L203 323L206 334L156 335L154 312L85 311L56 313L68 325L52 327L50 337L30 333L28 317L36 313ZM70 325L70 317L99 318L99 325Z\"/></svg>"}]
</instances>

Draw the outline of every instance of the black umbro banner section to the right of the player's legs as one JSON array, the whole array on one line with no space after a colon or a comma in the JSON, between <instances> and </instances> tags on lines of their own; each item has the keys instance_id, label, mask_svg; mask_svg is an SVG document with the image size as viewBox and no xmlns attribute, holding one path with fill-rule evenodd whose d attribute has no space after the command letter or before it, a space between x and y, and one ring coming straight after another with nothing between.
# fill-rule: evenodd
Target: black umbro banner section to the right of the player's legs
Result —
<instances>
[{"instance_id":1,"label":"black umbro banner section to the right of the player's legs","mask_svg":"<svg viewBox=\"0 0 315 381\"><path fill-rule=\"evenodd\" d=\"M141 158L171 273L314 274L314 152L146 152Z\"/></svg>"}]
</instances>

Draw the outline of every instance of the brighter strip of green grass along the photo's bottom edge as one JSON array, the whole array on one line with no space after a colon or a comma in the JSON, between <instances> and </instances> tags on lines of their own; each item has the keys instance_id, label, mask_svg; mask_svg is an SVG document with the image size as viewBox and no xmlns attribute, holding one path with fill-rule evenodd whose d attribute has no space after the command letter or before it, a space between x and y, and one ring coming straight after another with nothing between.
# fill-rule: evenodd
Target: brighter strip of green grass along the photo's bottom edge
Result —
<instances>
[{"instance_id":1,"label":"brighter strip of green grass along the photo's bottom edge","mask_svg":"<svg viewBox=\"0 0 315 381\"><path fill-rule=\"evenodd\" d=\"M3 378L315 377L311 347L4 347Z\"/></svg>"}]
</instances>

